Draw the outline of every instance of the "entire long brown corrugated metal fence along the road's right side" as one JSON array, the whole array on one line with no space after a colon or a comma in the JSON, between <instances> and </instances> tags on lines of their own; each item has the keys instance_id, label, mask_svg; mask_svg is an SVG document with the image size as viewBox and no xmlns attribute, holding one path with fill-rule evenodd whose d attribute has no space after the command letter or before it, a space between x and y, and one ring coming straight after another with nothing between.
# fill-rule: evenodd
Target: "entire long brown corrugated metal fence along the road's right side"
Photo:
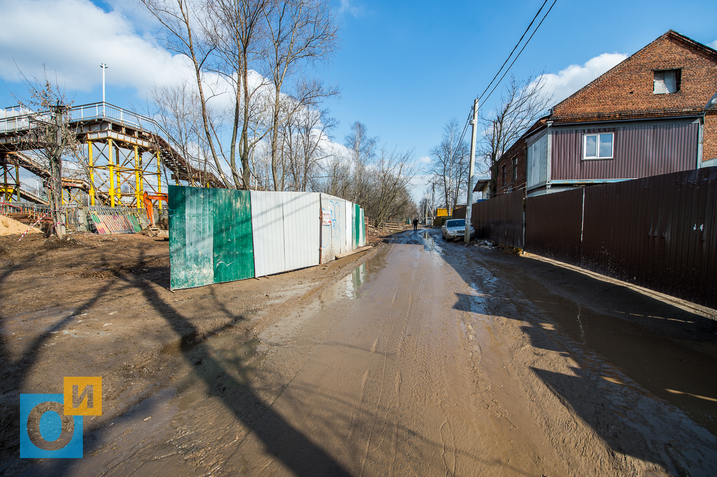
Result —
<instances>
[{"instance_id":1,"label":"entire long brown corrugated metal fence along the road's right side","mask_svg":"<svg viewBox=\"0 0 717 477\"><path fill-rule=\"evenodd\" d=\"M717 167L473 205L476 238L717 308ZM525 246L523 246L525 226Z\"/></svg>"}]
</instances>

